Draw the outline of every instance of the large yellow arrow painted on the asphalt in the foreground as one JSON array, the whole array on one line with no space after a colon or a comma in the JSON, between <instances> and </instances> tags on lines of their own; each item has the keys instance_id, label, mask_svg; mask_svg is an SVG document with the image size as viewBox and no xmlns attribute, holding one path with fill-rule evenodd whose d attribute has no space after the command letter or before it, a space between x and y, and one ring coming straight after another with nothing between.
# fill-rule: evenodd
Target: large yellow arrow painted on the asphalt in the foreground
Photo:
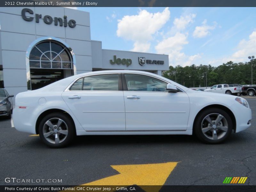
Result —
<instances>
[{"instance_id":1,"label":"large yellow arrow painted on the asphalt in the foreground","mask_svg":"<svg viewBox=\"0 0 256 192\"><path fill-rule=\"evenodd\" d=\"M83 185L138 185L144 191L159 191L178 162L138 165L111 165L120 174L109 176ZM156 187L152 188L149 185ZM116 191L110 190L110 191Z\"/></svg>"}]
</instances>

